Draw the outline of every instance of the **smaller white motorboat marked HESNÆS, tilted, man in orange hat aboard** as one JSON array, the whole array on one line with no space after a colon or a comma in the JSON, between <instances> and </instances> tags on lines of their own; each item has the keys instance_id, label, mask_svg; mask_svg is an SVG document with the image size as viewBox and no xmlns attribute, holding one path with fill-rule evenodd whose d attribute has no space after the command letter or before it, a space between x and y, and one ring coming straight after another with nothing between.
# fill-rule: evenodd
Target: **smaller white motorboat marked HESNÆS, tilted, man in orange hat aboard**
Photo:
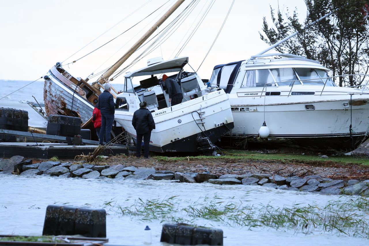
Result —
<instances>
[{"instance_id":1,"label":"smaller white motorboat marked HESN\u00c6S, tilted, man in orange hat aboard","mask_svg":"<svg viewBox=\"0 0 369 246\"><path fill-rule=\"evenodd\" d=\"M155 59L154 59L155 60ZM210 92L196 72L186 72L188 57L148 61L145 68L124 75L124 90L117 95L115 121L136 141L133 113L145 101L155 121L150 150L156 152L214 151L215 145L233 127L228 96L223 89ZM171 106L158 75L180 83L182 103ZM156 75L156 76L155 76Z\"/></svg>"}]
</instances>

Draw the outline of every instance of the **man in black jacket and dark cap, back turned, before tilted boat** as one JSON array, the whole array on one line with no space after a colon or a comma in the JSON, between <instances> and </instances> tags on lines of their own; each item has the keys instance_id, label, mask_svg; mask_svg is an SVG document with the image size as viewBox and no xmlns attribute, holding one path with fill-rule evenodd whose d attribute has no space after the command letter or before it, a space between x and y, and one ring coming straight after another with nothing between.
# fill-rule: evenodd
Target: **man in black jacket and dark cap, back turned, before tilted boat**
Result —
<instances>
[{"instance_id":1,"label":"man in black jacket and dark cap, back turned, before tilted boat","mask_svg":"<svg viewBox=\"0 0 369 246\"><path fill-rule=\"evenodd\" d=\"M136 130L136 157L141 157L141 143L144 137L144 158L149 158L149 144L152 129L155 129L155 122L150 110L146 109L145 101L139 104L139 109L133 113L132 126Z\"/></svg>"}]
</instances>

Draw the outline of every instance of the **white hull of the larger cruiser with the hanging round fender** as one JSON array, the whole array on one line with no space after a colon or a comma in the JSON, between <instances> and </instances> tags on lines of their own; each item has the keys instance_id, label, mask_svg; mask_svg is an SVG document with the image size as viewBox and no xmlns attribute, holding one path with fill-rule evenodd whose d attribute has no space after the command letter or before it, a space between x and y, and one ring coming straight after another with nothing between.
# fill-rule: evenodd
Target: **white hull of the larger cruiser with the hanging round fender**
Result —
<instances>
[{"instance_id":1,"label":"white hull of the larger cruiser with the hanging round fender","mask_svg":"<svg viewBox=\"0 0 369 246\"><path fill-rule=\"evenodd\" d=\"M314 89L311 86L304 89L307 87ZM279 89L279 96L262 97L260 88L247 91L258 96L243 96L242 89L234 90L230 102L235 127L230 136L232 139L256 137L265 120L270 134L268 139L259 139L263 143L269 141L332 152L354 150L368 138L369 95L361 95L356 89L330 89L333 91L324 91L322 95L319 92L296 96L288 96L289 91ZM268 88L268 91L273 89ZM351 97L349 93L355 94Z\"/></svg>"}]
</instances>

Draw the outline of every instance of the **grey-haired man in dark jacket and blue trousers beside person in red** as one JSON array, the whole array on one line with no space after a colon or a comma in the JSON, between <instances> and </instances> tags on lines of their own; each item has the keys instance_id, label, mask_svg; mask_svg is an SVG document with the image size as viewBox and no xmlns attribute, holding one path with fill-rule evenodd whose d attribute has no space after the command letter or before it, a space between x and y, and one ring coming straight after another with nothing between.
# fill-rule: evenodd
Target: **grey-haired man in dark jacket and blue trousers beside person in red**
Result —
<instances>
[{"instance_id":1,"label":"grey-haired man in dark jacket and blue trousers beside person in red","mask_svg":"<svg viewBox=\"0 0 369 246\"><path fill-rule=\"evenodd\" d=\"M111 85L110 83L104 84L104 92L99 96L99 106L101 113L101 128L100 128L100 144L104 144L105 141L110 142L110 131L113 126L115 103L113 95L110 93Z\"/></svg>"}]
</instances>

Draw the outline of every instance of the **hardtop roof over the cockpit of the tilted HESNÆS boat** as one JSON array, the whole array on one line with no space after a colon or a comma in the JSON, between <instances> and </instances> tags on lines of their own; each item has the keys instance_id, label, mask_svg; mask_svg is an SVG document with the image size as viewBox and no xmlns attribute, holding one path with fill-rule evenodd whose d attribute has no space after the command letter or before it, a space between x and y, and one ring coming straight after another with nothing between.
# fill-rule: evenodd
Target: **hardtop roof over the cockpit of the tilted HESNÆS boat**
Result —
<instances>
[{"instance_id":1,"label":"hardtop roof over the cockpit of the tilted HESN\u00c6S boat","mask_svg":"<svg viewBox=\"0 0 369 246\"><path fill-rule=\"evenodd\" d=\"M146 66L134 72L124 75L125 78L134 76L163 74L168 72L179 72L188 63L188 57L179 57L168 61L158 62L156 64Z\"/></svg>"}]
</instances>

